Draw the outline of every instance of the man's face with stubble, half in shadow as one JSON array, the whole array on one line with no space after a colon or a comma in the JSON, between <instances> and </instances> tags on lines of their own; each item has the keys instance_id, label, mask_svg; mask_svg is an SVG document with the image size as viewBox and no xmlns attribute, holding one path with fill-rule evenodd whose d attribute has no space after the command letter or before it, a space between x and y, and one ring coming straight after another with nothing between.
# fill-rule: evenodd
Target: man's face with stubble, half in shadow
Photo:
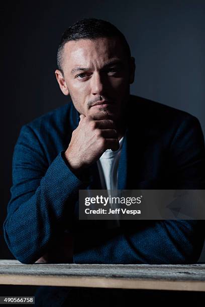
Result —
<instances>
[{"instance_id":1,"label":"man's face with stubble, half in shadow","mask_svg":"<svg viewBox=\"0 0 205 307\"><path fill-rule=\"evenodd\" d=\"M106 111L109 118L120 120L134 81L134 66L118 38L84 39L65 44L64 76L59 70L55 73L62 92L70 94L80 114Z\"/></svg>"}]
</instances>

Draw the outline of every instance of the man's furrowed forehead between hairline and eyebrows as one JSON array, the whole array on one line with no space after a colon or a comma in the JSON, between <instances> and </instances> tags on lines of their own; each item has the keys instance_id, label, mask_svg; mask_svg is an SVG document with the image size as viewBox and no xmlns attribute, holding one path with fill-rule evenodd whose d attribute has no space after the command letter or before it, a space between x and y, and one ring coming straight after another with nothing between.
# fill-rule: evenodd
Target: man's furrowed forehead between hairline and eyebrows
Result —
<instances>
[{"instance_id":1,"label":"man's furrowed forehead between hairline and eyebrows","mask_svg":"<svg viewBox=\"0 0 205 307\"><path fill-rule=\"evenodd\" d=\"M119 38L97 38L94 40L69 41L64 46L63 66L101 66L111 59L124 60L126 57Z\"/></svg>"}]
</instances>

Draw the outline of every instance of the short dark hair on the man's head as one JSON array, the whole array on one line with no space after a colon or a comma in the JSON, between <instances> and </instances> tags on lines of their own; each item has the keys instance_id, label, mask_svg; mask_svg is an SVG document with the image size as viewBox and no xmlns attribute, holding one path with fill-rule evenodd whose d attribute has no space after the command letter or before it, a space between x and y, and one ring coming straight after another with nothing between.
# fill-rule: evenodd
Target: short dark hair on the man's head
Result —
<instances>
[{"instance_id":1,"label":"short dark hair on the man's head","mask_svg":"<svg viewBox=\"0 0 205 307\"><path fill-rule=\"evenodd\" d=\"M60 44L58 46L57 52L57 66L58 69L63 74L62 69L62 57L63 57L63 47L69 41L77 41L82 39L94 40L100 37L118 37L121 39L122 47L124 48L128 58L131 57L130 47L125 36L116 28L113 24L108 21L88 18L82 19L67 30L64 31L61 37Z\"/></svg>"}]
</instances>

